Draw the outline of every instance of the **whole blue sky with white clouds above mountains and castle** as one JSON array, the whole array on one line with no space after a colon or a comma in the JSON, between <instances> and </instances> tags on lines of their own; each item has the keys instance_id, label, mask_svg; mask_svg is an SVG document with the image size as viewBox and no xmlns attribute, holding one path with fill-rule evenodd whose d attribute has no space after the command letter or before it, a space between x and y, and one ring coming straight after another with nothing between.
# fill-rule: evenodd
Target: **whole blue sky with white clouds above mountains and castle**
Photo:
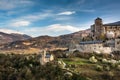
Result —
<instances>
[{"instance_id":1,"label":"whole blue sky with white clouds above mountains and castle","mask_svg":"<svg viewBox=\"0 0 120 80\"><path fill-rule=\"evenodd\" d=\"M120 20L120 0L0 0L0 31L36 37L87 29L94 19Z\"/></svg>"}]
</instances>

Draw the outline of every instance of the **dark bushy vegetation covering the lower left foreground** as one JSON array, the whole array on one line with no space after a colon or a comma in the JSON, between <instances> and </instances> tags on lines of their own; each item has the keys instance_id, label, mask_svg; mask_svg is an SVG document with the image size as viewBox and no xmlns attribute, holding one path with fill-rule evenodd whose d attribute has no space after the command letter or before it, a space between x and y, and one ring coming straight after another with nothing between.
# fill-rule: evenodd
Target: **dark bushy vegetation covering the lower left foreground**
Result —
<instances>
[{"instance_id":1,"label":"dark bushy vegetation covering the lower left foreground","mask_svg":"<svg viewBox=\"0 0 120 80\"><path fill-rule=\"evenodd\" d=\"M60 68L56 61L41 65L39 58L36 54L0 54L0 80L86 80Z\"/></svg>"}]
</instances>

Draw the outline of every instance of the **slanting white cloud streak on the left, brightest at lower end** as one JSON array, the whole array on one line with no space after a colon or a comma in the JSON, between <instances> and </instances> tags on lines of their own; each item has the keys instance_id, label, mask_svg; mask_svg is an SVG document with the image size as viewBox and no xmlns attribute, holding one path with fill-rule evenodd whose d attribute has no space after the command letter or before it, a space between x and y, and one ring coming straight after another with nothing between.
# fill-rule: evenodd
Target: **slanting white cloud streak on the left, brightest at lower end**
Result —
<instances>
[{"instance_id":1,"label":"slanting white cloud streak on the left, brightest at lower end","mask_svg":"<svg viewBox=\"0 0 120 80\"><path fill-rule=\"evenodd\" d=\"M44 19L50 18L50 17L53 18L53 16L54 16L54 14L51 13L50 10L46 10L46 11L43 11L43 12L37 12L37 13L13 18L13 19L9 20L4 26L7 26L7 27L29 26L30 24L32 24L35 21L44 20Z\"/></svg>"}]
</instances>

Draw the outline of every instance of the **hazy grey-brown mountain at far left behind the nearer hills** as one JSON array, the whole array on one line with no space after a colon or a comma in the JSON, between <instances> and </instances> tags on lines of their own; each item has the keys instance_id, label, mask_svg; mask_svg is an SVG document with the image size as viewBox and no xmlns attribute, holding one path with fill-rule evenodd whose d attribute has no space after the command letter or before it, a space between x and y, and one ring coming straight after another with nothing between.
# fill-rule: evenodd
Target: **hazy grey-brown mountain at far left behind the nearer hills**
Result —
<instances>
[{"instance_id":1,"label":"hazy grey-brown mountain at far left behind the nearer hills","mask_svg":"<svg viewBox=\"0 0 120 80\"><path fill-rule=\"evenodd\" d=\"M13 41L18 41L18 40L26 40L31 38L28 35L23 35L23 34L7 34L7 33L3 33L0 32L0 44L5 44L8 42L13 42Z\"/></svg>"}]
</instances>

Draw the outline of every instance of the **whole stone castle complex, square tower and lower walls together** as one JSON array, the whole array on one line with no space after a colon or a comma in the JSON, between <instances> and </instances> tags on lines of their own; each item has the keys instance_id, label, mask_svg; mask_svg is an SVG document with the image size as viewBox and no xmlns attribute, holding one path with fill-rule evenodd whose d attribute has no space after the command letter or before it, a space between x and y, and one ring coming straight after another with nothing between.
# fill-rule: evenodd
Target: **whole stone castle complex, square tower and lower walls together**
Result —
<instances>
[{"instance_id":1,"label":"whole stone castle complex, square tower and lower walls together","mask_svg":"<svg viewBox=\"0 0 120 80\"><path fill-rule=\"evenodd\" d=\"M120 51L120 21L115 23L103 24L101 18L95 19L91 26L92 41L80 42L76 48L69 51L79 50L83 53L107 53ZM108 40L101 41L103 38Z\"/></svg>"}]
</instances>

